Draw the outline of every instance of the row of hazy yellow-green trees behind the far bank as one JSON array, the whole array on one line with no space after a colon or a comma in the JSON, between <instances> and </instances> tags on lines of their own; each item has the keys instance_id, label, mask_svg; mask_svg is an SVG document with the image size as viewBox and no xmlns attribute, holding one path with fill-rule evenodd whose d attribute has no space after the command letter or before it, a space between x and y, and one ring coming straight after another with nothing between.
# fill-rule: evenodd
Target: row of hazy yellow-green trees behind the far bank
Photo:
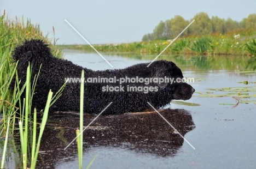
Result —
<instances>
[{"instance_id":1,"label":"row of hazy yellow-green trees behind the far bank","mask_svg":"<svg viewBox=\"0 0 256 169\"><path fill-rule=\"evenodd\" d=\"M160 23L154 28L153 33L143 35L142 41L148 40L167 40L176 38L191 21L192 25L186 29L181 37L188 35L207 35L211 33L225 34L236 29L256 29L256 14L250 14L242 21L237 22L228 19L221 19L218 16L210 18L207 13L196 14L193 19L185 20L182 16L176 15L170 20Z\"/></svg>"}]
</instances>

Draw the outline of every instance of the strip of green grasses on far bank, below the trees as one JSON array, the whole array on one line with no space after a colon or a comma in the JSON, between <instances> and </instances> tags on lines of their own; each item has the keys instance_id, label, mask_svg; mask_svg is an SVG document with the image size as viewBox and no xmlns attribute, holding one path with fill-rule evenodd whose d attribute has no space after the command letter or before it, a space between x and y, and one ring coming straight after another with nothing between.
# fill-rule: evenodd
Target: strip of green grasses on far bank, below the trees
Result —
<instances>
[{"instance_id":1,"label":"strip of green grasses on far bank, below the trees","mask_svg":"<svg viewBox=\"0 0 256 169\"><path fill-rule=\"evenodd\" d=\"M237 36L239 34L239 36ZM185 37L176 39L163 55L193 54L193 55L252 55L246 44L255 36L255 30L242 30L226 34L209 34L207 37ZM124 44L95 44L99 52L106 53L138 53L143 55L158 55L172 42L169 40L141 41ZM95 52L90 45L59 45L61 49L85 50Z\"/></svg>"}]
</instances>

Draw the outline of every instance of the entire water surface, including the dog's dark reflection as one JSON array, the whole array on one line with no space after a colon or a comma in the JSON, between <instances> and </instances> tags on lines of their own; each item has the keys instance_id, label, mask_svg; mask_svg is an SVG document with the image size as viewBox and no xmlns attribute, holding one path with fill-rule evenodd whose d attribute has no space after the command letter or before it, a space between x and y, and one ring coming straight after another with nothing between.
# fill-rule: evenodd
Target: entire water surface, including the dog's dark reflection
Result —
<instances>
[{"instance_id":1,"label":"entire water surface, including the dog's dark reflection","mask_svg":"<svg viewBox=\"0 0 256 169\"><path fill-rule=\"evenodd\" d=\"M103 55L113 65L90 53L65 51L65 58L93 70L119 69L154 56ZM84 132L83 164L90 168L255 168L256 98L199 97L207 88L252 87L255 95L255 60L247 57L160 56L175 62L196 93L184 102L173 102L159 112L176 128L174 131L156 112L127 113L99 117ZM213 94L223 94L223 91ZM242 102L243 101L243 102ZM246 103L244 103L246 102ZM189 103L189 104L188 104ZM56 112L49 117L38 156L38 167L78 168L77 147L73 143L79 116ZM84 125L94 119L86 115ZM84 167L86 168L86 167Z\"/></svg>"}]
</instances>

